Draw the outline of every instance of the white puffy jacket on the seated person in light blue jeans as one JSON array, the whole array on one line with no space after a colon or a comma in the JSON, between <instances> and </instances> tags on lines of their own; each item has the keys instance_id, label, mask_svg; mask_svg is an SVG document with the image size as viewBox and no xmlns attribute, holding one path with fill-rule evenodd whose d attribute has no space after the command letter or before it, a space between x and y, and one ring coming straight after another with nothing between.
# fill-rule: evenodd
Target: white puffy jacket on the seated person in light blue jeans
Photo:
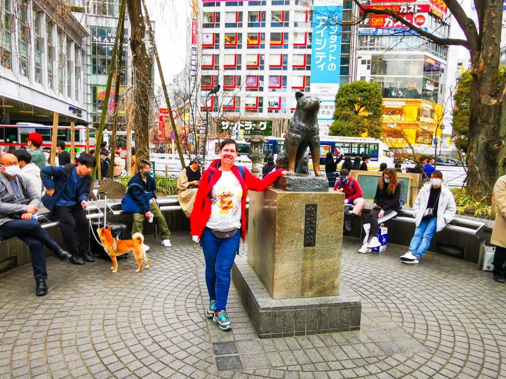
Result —
<instances>
[{"instance_id":1,"label":"white puffy jacket on the seated person in light blue jeans","mask_svg":"<svg viewBox=\"0 0 506 379\"><path fill-rule=\"evenodd\" d=\"M431 194L432 184L427 182L420 189L418 196L414 202L413 215L415 218L415 224L418 226L424 217L424 212L427 209L427 203L429 203L429 196ZM438 200L438 221L436 224L436 232L443 230L444 227L453 220L457 207L455 206L455 198L451 193L450 189L445 183L441 183L441 195Z\"/></svg>"}]
</instances>

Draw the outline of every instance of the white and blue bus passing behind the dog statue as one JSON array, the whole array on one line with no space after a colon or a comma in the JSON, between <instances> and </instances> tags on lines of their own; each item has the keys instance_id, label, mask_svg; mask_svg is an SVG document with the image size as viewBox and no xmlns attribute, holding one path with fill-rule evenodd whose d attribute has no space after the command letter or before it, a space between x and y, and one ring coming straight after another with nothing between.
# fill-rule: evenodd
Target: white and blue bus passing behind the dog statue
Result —
<instances>
[{"instance_id":1,"label":"white and blue bus passing behind the dog statue","mask_svg":"<svg viewBox=\"0 0 506 379\"><path fill-rule=\"evenodd\" d=\"M264 154L274 156L276 159L279 152L283 149L284 138L269 137L269 141L264 144ZM369 166L378 167L381 163L387 163L389 167L394 165L394 155L388 146L381 140L368 137L341 137L335 135L320 136L320 165L325 165L325 159L328 152L334 157L350 156L354 159L356 156L370 157ZM308 149L308 153L309 149ZM311 155L311 154L310 154ZM310 161L310 164L312 162Z\"/></svg>"}]
</instances>

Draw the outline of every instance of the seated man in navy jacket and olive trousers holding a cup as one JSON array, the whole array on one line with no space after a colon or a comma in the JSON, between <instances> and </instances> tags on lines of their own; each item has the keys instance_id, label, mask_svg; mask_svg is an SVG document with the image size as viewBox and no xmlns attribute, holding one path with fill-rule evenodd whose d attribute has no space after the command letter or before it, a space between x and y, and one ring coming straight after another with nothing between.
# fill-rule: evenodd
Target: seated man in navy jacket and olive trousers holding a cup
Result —
<instances>
[{"instance_id":1,"label":"seated man in navy jacket and olive trousers holding a cup","mask_svg":"<svg viewBox=\"0 0 506 379\"><path fill-rule=\"evenodd\" d=\"M168 230L165 217L163 217L160 207L156 203L156 182L151 176L151 163L142 160L138 163L137 169L139 172L128 182L128 193L142 213L134 213L132 234L136 232L142 234L144 220L148 219L149 222L153 222L153 218L156 218L156 224L160 230L161 244L167 248L171 247L171 231ZM145 246L146 248L149 249Z\"/></svg>"}]
</instances>

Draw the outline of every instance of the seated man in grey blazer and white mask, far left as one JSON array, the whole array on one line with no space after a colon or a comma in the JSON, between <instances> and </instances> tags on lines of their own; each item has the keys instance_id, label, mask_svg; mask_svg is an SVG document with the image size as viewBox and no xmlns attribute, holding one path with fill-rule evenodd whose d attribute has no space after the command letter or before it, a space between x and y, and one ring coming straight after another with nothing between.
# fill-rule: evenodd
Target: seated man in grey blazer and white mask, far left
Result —
<instances>
[{"instance_id":1,"label":"seated man in grey blazer and white mask, far left","mask_svg":"<svg viewBox=\"0 0 506 379\"><path fill-rule=\"evenodd\" d=\"M30 249L37 296L48 293L44 245L61 260L70 257L54 242L39 222L33 219L40 204L40 189L19 175L19 163L13 154L0 155L0 238L18 237Z\"/></svg>"}]
</instances>

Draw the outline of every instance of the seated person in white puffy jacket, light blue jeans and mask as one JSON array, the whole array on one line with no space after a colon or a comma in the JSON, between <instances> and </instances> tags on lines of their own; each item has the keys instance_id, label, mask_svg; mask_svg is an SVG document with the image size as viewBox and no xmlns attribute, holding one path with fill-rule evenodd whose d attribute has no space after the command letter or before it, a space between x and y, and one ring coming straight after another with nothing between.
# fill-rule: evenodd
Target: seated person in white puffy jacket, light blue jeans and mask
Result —
<instances>
[{"instance_id":1,"label":"seated person in white puffy jacket, light blue jeans and mask","mask_svg":"<svg viewBox=\"0 0 506 379\"><path fill-rule=\"evenodd\" d=\"M407 264L418 264L429 249L434 234L443 230L455 217L455 198L443 183L441 171L432 172L431 181L420 189L413 210L416 229L408 251L400 257L401 262Z\"/></svg>"}]
</instances>

